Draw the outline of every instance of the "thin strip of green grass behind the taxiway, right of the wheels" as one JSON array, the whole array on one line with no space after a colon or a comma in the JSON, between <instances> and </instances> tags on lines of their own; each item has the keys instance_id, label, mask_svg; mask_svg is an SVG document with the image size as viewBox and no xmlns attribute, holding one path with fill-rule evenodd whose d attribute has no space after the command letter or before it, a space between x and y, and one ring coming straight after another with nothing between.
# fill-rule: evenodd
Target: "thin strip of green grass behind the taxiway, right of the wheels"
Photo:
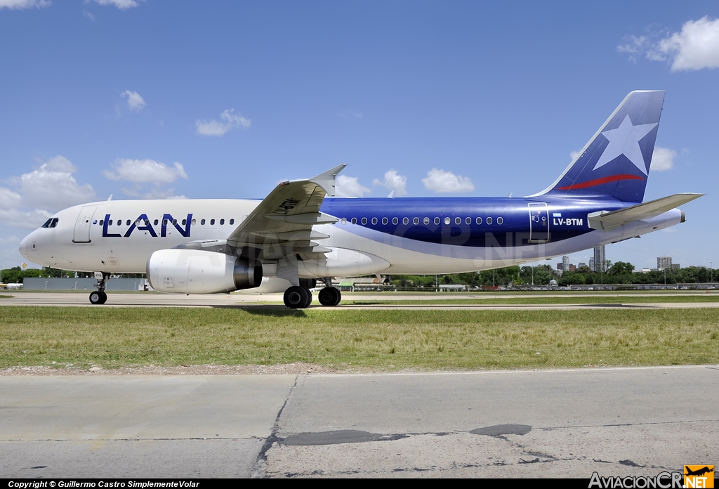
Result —
<instances>
[{"instance_id":1,"label":"thin strip of green grass behind the taxiway, right of the wheels","mask_svg":"<svg viewBox=\"0 0 719 489\"><path fill-rule=\"evenodd\" d=\"M365 304L367 306L374 304L385 304L388 306L413 306L413 305L462 305L462 304L615 304L615 303L680 303L680 302L715 302L719 303L719 296L566 296L566 297L491 297L491 298L466 298L466 299L445 299L432 297L427 299L408 299L408 300L373 300L362 298L346 298L343 304Z\"/></svg>"}]
</instances>

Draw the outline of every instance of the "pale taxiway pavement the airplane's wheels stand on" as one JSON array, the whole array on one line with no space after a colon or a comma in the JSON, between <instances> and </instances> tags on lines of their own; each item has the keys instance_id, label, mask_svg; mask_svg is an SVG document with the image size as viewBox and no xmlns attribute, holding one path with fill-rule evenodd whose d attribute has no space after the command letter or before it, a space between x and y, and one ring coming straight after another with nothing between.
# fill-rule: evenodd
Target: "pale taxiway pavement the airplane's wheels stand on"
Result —
<instances>
[{"instance_id":1,"label":"pale taxiway pavement the airplane's wheels stand on","mask_svg":"<svg viewBox=\"0 0 719 489\"><path fill-rule=\"evenodd\" d=\"M0 299L0 306L91 306L88 301L88 294L84 292L25 292L9 291L3 295L12 295L12 298ZM706 293L667 293L666 296L706 296ZM207 294L207 295L183 295L183 294L161 294L161 293L109 293L109 298L104 306L92 307L203 307L203 308L278 308L285 309L282 294ZM602 297L608 297L602 294ZM452 300L452 299L477 299L482 298L533 298L533 297L563 297L575 298L576 294L493 294L491 296L480 296L473 294L343 294L343 301L339 306L325 308L319 304L316 297L312 303L313 309L406 309L406 310L485 310L485 309L607 309L607 308L639 308L639 309L697 309L717 308L719 302L666 302L666 303L623 303L623 298L649 296L656 297L656 293L618 293L615 303L574 303L574 304L446 304L431 301ZM582 295L580 295L582 297ZM587 294L586 297L596 297ZM626 300L626 299L625 299ZM426 301L426 304L383 304L368 303L369 301Z\"/></svg>"}]
</instances>

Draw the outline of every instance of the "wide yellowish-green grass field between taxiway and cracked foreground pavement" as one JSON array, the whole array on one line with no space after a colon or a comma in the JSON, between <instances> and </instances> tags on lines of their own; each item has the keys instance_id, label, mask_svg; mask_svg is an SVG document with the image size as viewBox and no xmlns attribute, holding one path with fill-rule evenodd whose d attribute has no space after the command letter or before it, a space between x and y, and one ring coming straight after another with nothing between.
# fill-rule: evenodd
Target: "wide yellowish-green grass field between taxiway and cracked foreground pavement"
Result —
<instances>
[{"instance_id":1,"label":"wide yellowish-green grass field between taxiway and cracked foreground pavement","mask_svg":"<svg viewBox=\"0 0 719 489\"><path fill-rule=\"evenodd\" d=\"M0 306L0 367L301 361L338 370L476 370L707 364L719 362L718 319L718 309L285 311Z\"/></svg>"}]
</instances>

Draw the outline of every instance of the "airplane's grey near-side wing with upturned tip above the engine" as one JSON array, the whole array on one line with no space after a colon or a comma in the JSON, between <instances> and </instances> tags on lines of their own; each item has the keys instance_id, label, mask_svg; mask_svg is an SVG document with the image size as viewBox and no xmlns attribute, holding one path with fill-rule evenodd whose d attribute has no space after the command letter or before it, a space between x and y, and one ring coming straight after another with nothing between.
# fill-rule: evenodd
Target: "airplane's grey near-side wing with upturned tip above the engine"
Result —
<instances>
[{"instance_id":1,"label":"airplane's grey near-side wing with upturned tip above the engine","mask_svg":"<svg viewBox=\"0 0 719 489\"><path fill-rule=\"evenodd\" d=\"M338 221L319 209L326 195L334 196L335 177L345 166L336 166L308 180L280 183L230 234L228 244L260 248L262 257L270 259L291 252L329 251L315 242L329 236L312 227Z\"/></svg>"}]
</instances>

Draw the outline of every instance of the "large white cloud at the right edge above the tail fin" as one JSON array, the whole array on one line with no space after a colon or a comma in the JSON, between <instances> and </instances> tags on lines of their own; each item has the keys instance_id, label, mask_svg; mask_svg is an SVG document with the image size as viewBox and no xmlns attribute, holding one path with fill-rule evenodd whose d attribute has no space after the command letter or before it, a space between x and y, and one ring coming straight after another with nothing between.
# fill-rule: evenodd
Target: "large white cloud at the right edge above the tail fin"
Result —
<instances>
[{"instance_id":1,"label":"large white cloud at the right edge above the tail fin","mask_svg":"<svg viewBox=\"0 0 719 489\"><path fill-rule=\"evenodd\" d=\"M661 34L663 39L659 39ZM617 46L617 51L628 53L634 62L637 56L644 55L653 61L670 61L672 71L719 68L719 19L702 17L685 22L680 32L632 35L625 40L626 44Z\"/></svg>"}]
</instances>

